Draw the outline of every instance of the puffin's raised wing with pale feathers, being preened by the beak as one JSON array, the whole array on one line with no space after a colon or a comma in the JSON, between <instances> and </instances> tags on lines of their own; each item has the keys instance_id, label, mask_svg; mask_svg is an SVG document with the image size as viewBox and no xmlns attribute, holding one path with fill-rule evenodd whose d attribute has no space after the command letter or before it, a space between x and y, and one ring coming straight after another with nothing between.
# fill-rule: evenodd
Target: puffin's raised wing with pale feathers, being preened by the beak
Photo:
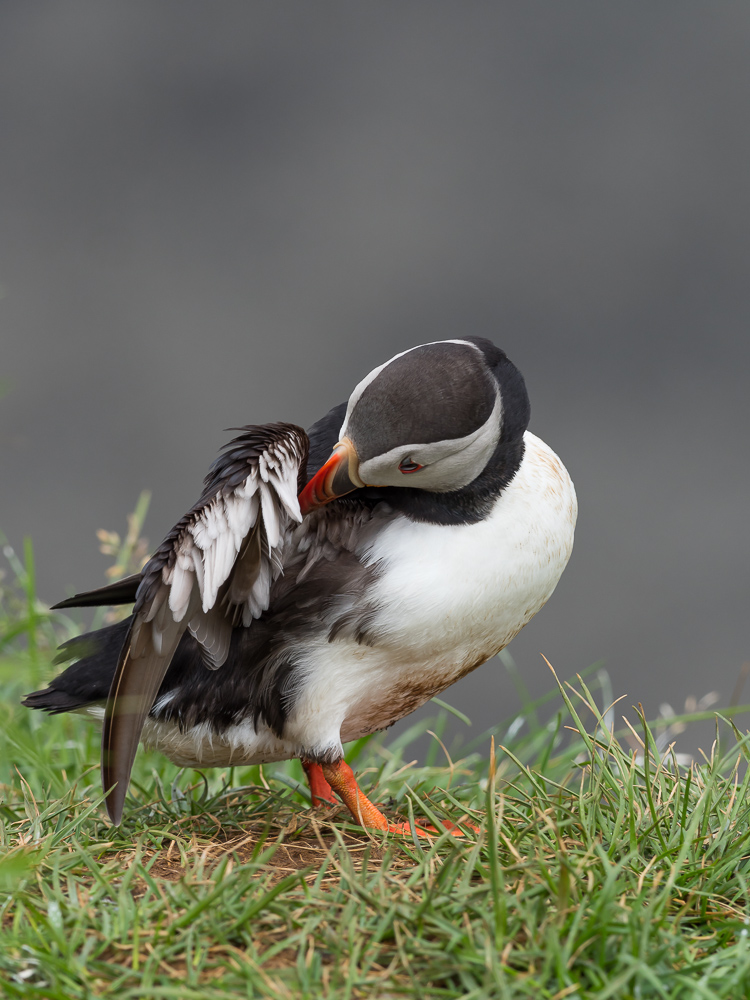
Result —
<instances>
[{"instance_id":1,"label":"puffin's raised wing with pale feathers, being preened by the beak","mask_svg":"<svg viewBox=\"0 0 750 1000\"><path fill-rule=\"evenodd\" d=\"M232 629L268 608L282 550L302 520L297 494L308 452L293 424L238 428L203 493L146 563L133 622L109 692L102 733L107 809L119 823L143 723L177 646L190 631L218 669Z\"/></svg>"}]
</instances>

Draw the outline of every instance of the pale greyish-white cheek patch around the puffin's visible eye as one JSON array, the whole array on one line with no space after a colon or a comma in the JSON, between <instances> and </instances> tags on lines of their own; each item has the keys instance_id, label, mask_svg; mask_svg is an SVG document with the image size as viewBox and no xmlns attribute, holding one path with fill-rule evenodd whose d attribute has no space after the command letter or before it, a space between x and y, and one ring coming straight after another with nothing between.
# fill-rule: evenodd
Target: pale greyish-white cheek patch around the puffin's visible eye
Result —
<instances>
[{"instance_id":1,"label":"pale greyish-white cheek patch around the puffin's visible eye","mask_svg":"<svg viewBox=\"0 0 750 1000\"><path fill-rule=\"evenodd\" d=\"M492 413L471 434L431 444L404 444L377 455L359 467L368 486L411 486L415 489L450 493L468 485L482 472L500 440L502 402L497 394ZM423 465L418 472L403 473L405 458Z\"/></svg>"}]
</instances>

